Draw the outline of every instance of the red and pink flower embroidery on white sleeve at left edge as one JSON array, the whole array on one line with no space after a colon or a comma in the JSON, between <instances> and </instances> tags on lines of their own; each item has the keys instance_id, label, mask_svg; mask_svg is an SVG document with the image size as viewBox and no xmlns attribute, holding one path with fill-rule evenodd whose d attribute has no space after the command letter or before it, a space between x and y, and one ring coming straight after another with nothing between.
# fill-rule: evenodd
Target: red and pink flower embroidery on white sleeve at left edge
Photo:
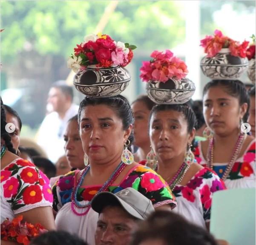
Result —
<instances>
[{"instance_id":1,"label":"red and pink flower embroidery on white sleeve at left edge","mask_svg":"<svg viewBox=\"0 0 256 245\"><path fill-rule=\"evenodd\" d=\"M33 205L52 206L53 196L49 179L33 163L17 159L1 170L3 197L10 203L14 213L33 208Z\"/></svg>"}]
</instances>

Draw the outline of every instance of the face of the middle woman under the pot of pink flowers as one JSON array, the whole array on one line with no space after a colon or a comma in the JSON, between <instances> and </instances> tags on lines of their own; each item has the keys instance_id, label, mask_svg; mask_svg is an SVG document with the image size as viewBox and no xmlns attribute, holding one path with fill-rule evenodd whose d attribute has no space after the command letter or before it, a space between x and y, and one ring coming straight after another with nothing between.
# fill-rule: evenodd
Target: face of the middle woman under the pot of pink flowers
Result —
<instances>
[{"instance_id":1,"label":"face of the middle woman under the pot of pink flowers","mask_svg":"<svg viewBox=\"0 0 256 245\"><path fill-rule=\"evenodd\" d=\"M185 155L194 135L194 129L187 132L187 121L180 112L158 111L150 119L150 142L158 160L167 161Z\"/></svg>"}]
</instances>

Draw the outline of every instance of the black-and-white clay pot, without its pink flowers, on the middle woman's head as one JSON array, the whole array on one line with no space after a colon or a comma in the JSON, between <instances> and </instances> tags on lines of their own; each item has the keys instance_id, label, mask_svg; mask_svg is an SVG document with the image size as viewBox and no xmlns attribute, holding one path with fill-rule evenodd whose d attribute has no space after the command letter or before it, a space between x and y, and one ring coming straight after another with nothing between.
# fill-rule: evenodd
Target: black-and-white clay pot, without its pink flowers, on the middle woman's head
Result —
<instances>
[{"instance_id":1,"label":"black-and-white clay pot, without its pink flowers, on the middle woman's head","mask_svg":"<svg viewBox=\"0 0 256 245\"><path fill-rule=\"evenodd\" d=\"M147 94L156 104L184 104L195 93L195 84L187 78L169 79L167 82L147 83Z\"/></svg>"}]
</instances>

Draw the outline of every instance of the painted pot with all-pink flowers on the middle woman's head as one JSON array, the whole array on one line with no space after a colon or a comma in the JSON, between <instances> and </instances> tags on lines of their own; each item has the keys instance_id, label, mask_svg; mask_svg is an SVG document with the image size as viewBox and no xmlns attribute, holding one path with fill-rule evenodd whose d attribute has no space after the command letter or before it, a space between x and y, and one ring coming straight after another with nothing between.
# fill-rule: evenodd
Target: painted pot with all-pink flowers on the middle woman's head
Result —
<instances>
[{"instance_id":1,"label":"painted pot with all-pink flowers on the middle woman's head","mask_svg":"<svg viewBox=\"0 0 256 245\"><path fill-rule=\"evenodd\" d=\"M185 62L170 50L153 51L150 61L144 61L140 78L147 82L149 98L156 104L184 104L195 93L195 84L186 78Z\"/></svg>"}]
</instances>

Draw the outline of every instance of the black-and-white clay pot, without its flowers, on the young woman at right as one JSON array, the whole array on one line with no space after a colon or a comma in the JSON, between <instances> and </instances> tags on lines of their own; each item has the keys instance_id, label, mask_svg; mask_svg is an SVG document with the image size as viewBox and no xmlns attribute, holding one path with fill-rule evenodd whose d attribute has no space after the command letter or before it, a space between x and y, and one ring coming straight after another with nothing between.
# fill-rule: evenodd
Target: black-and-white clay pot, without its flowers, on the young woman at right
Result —
<instances>
[{"instance_id":1,"label":"black-and-white clay pot, without its flowers, on the young woman at right","mask_svg":"<svg viewBox=\"0 0 256 245\"><path fill-rule=\"evenodd\" d=\"M248 67L248 59L230 54L229 48L222 48L216 56L201 60L201 70L212 80L238 79Z\"/></svg>"}]
</instances>

